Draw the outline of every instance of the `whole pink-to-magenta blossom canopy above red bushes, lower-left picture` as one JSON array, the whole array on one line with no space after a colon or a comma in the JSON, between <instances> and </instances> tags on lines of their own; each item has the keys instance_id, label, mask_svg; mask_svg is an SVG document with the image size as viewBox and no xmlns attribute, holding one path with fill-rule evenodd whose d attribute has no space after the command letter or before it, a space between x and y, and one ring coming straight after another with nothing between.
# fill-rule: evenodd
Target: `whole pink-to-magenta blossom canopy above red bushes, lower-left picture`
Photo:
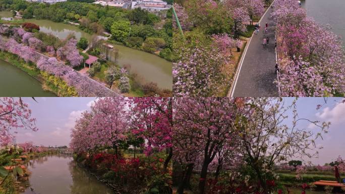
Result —
<instances>
[{"instance_id":1,"label":"whole pink-to-magenta blossom canopy above red bushes, lower-left picture","mask_svg":"<svg viewBox=\"0 0 345 194\"><path fill-rule=\"evenodd\" d=\"M132 133L151 154L172 147L171 119L170 98L102 98L77 119L70 146L77 153L118 147Z\"/></svg>"}]
</instances>

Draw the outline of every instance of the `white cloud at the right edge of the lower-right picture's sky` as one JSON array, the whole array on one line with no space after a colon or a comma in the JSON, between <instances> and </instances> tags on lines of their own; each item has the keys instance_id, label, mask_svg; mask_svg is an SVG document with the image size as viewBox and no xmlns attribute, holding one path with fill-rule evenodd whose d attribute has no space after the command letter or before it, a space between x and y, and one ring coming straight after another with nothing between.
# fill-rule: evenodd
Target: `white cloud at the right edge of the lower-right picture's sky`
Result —
<instances>
[{"instance_id":1,"label":"white cloud at the right edge of the lower-right picture's sky","mask_svg":"<svg viewBox=\"0 0 345 194\"><path fill-rule=\"evenodd\" d=\"M333 108L326 107L321 113L316 113L316 117L323 121L330 121L332 125L345 124L345 104L340 103Z\"/></svg>"}]
</instances>

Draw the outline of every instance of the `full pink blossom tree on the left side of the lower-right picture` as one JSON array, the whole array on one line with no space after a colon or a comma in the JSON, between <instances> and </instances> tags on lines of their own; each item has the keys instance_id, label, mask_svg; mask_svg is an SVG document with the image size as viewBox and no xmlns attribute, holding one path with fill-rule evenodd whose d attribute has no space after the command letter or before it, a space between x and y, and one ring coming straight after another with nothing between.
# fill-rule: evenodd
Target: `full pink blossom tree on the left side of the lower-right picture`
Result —
<instances>
[{"instance_id":1,"label":"full pink blossom tree on the left side of the lower-right picture","mask_svg":"<svg viewBox=\"0 0 345 194\"><path fill-rule=\"evenodd\" d=\"M200 162L197 164L201 167L199 193L203 194L209 165L219 159L217 168L220 170L222 159L227 154L223 149L227 150L229 146L236 144L233 126L238 109L235 99L180 98L174 104L174 157L188 162L184 182L188 182L195 162ZM183 193L185 186L180 185L179 193Z\"/></svg>"}]
</instances>

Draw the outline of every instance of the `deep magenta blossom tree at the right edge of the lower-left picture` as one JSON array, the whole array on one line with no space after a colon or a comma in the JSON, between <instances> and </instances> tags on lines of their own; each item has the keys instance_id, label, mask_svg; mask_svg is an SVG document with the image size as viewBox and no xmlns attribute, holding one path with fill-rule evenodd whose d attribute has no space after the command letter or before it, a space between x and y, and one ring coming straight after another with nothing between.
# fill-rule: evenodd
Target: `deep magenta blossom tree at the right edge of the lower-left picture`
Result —
<instances>
[{"instance_id":1,"label":"deep magenta blossom tree at the right edge of the lower-left picture","mask_svg":"<svg viewBox=\"0 0 345 194\"><path fill-rule=\"evenodd\" d=\"M172 99L171 98L132 98L132 133L147 140L145 153L153 149L166 150L163 170L172 158Z\"/></svg>"}]
</instances>

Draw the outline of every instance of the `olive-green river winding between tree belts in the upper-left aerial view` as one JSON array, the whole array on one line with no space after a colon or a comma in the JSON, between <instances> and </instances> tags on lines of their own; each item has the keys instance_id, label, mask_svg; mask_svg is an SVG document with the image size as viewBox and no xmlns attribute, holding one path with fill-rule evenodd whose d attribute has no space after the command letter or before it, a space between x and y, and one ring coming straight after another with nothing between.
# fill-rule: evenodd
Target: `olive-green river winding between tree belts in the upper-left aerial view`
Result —
<instances>
[{"instance_id":1,"label":"olive-green river winding between tree belts in the upper-left aerial view","mask_svg":"<svg viewBox=\"0 0 345 194\"><path fill-rule=\"evenodd\" d=\"M0 12L0 18L12 17L9 11ZM40 31L52 33L59 38L66 38L68 34L74 33L77 39L86 37L89 39L89 33L84 32L77 26L56 23L50 20L26 19L25 21L35 23L40 26ZM154 82L157 86L172 90L172 63L158 56L143 51L131 49L122 45L114 45L119 49L119 57L115 61L121 67L129 66L131 74L137 74L141 84Z\"/></svg>"}]
</instances>

